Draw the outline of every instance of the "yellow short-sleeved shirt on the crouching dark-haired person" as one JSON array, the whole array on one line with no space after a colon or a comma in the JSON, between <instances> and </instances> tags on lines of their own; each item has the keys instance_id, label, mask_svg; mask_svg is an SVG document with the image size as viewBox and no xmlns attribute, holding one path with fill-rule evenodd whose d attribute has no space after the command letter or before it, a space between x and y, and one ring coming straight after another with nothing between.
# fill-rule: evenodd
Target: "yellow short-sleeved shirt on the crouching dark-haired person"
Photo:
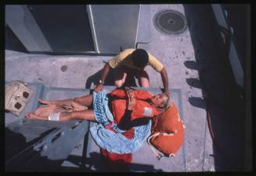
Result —
<instances>
[{"instance_id":1,"label":"yellow short-sleeved shirt on the crouching dark-haired person","mask_svg":"<svg viewBox=\"0 0 256 176\"><path fill-rule=\"evenodd\" d=\"M126 49L121 53L119 53L114 58L111 58L110 61L108 62L110 67L114 69L117 67L117 65L125 65L131 69L139 69L138 67L133 65L132 58L131 58L131 54L133 51L135 51L135 49ZM147 54L149 55L150 66L152 66L153 69L155 69L157 72L160 72L164 67L163 64L159 62L157 58L153 57L153 55L150 55L149 52L147 52Z\"/></svg>"}]
</instances>

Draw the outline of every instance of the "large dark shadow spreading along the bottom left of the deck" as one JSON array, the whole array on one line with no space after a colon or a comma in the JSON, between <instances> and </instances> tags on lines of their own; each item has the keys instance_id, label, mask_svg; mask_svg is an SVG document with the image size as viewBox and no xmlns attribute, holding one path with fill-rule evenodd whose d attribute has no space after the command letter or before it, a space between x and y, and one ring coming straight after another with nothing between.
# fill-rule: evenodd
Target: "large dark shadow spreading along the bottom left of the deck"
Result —
<instances>
[{"instance_id":1,"label":"large dark shadow spreading along the bottom left of the deck","mask_svg":"<svg viewBox=\"0 0 256 176\"><path fill-rule=\"evenodd\" d=\"M33 144L37 143L54 128L41 134L36 139L26 142L26 137L20 133L5 128L5 171L40 171L40 172L163 172L156 170L149 164L124 164L123 162L110 162L101 154L92 152L89 157L70 155L63 160L49 160L42 157L40 151L34 150ZM87 139L87 138L85 138ZM85 142L87 146L87 140ZM85 150L87 148L85 147ZM86 153L86 151L85 151ZM62 166L63 161L69 161L76 167Z\"/></svg>"}]
</instances>

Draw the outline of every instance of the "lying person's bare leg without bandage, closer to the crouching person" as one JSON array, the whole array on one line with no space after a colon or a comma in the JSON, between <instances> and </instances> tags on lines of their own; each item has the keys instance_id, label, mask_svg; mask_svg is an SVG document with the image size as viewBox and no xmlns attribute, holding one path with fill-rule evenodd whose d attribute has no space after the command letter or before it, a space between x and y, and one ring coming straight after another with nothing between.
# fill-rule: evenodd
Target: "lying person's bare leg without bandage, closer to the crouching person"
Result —
<instances>
[{"instance_id":1,"label":"lying person's bare leg without bandage, closer to the crouching person","mask_svg":"<svg viewBox=\"0 0 256 176\"><path fill-rule=\"evenodd\" d=\"M70 102L74 101L78 104L81 104L85 107L88 107L92 104L92 95L86 95L83 97L76 97L74 99L67 99L67 100L38 100L41 104L55 104L56 106L62 106L64 104L70 104Z\"/></svg>"}]
</instances>

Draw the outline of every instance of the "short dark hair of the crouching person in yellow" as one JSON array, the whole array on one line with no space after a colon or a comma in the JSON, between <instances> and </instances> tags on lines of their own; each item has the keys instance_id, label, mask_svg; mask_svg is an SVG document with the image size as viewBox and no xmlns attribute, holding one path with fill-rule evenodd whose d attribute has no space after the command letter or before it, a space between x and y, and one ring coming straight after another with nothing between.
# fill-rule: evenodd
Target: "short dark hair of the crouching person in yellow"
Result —
<instances>
[{"instance_id":1,"label":"short dark hair of the crouching person in yellow","mask_svg":"<svg viewBox=\"0 0 256 176\"><path fill-rule=\"evenodd\" d=\"M143 49L136 49L132 52L132 62L135 66L143 68L149 63L149 55Z\"/></svg>"}]
</instances>

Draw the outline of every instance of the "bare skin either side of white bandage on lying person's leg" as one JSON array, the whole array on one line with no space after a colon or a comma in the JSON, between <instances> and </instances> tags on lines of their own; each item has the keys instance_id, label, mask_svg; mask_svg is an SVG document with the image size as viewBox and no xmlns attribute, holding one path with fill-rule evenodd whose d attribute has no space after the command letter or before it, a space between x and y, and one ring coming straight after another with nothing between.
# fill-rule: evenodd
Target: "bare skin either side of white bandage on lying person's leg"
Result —
<instances>
[{"instance_id":1,"label":"bare skin either side of white bandage on lying person's leg","mask_svg":"<svg viewBox=\"0 0 256 176\"><path fill-rule=\"evenodd\" d=\"M26 118L32 120L48 120L48 117L39 116L34 113L27 113ZM96 121L94 113L92 110L85 110L85 111L74 111L74 112L62 112L59 114L59 121L69 121L69 120L88 120L88 121Z\"/></svg>"}]
</instances>

